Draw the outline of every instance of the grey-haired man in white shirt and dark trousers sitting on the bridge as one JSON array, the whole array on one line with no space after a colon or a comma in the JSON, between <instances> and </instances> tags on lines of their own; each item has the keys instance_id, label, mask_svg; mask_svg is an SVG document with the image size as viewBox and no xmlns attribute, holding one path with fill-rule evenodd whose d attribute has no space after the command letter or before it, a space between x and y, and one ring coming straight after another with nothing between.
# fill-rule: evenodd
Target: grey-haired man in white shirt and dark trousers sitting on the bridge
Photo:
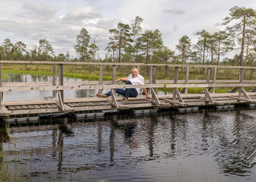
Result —
<instances>
[{"instance_id":1,"label":"grey-haired man in white shirt and dark trousers sitting on the bridge","mask_svg":"<svg viewBox=\"0 0 256 182\"><path fill-rule=\"evenodd\" d=\"M118 78L116 82L118 81L125 81L126 85L139 85L139 84L144 84L144 77L142 77L139 74L139 71L136 67L133 67L132 73L128 77L123 77L123 78ZM124 96L123 102L128 101L128 97L136 97L139 95L139 90L140 88L130 88L130 89L116 89L116 93L119 93L120 95ZM143 92L146 95L147 99L151 99L151 96L148 95L148 92L146 88L143 88ZM111 96L111 92L101 94L97 93L98 97L108 97Z\"/></svg>"}]
</instances>

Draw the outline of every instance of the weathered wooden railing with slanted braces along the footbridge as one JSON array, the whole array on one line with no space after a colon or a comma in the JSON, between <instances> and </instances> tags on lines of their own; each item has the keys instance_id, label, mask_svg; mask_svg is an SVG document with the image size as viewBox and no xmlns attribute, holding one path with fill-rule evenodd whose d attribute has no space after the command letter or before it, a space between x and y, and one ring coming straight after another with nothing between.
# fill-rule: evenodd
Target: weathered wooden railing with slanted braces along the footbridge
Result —
<instances>
[{"instance_id":1,"label":"weathered wooden railing with slanted braces along the footbridge","mask_svg":"<svg viewBox=\"0 0 256 182\"><path fill-rule=\"evenodd\" d=\"M2 83L2 64L51 64L53 65L53 82L40 82L40 83ZM63 82L63 65L98 65L99 66L99 80L98 81L81 81L81 82ZM59 83L56 82L57 69L56 65L59 65ZM103 81L103 67L112 66L112 80ZM146 80L146 85L117 85L116 84L116 70L117 66L135 66L150 67L150 79ZM171 80L156 80L156 67L174 67L174 78ZM184 80L178 80L178 70L181 67L186 67L186 75ZM205 68L206 80L189 80L190 68ZM216 80L218 69L235 69L238 70L238 80ZM102 89L110 89L113 94L112 104L117 105L117 100L114 96L114 89L124 88L149 88L152 94L152 102L159 105L158 96L155 94L155 88L162 88L166 84L166 88L174 88L172 99L174 102L178 99L178 102L183 102L181 93L178 88L183 87L184 93L187 94L187 88L205 88L205 100L206 102L214 102L210 95L215 93L216 87L235 87L232 91L238 89L238 98L242 95L247 100L251 100L243 87L254 86L256 87L256 80L244 80L243 75L245 69L256 69L256 67L239 67L239 66L216 66L216 65L192 65L192 64L143 64L143 63L90 63L90 62L50 62L50 61L0 61L0 106L2 102L2 93L12 91L30 91L30 90L53 90L53 98L58 95L59 103L63 107L64 95L63 92L66 89L99 89L99 93ZM210 74L213 72L213 79L210 80ZM129 72L127 73L129 74ZM156 84L158 83L158 84ZM255 91L255 89L254 89Z\"/></svg>"}]
</instances>

